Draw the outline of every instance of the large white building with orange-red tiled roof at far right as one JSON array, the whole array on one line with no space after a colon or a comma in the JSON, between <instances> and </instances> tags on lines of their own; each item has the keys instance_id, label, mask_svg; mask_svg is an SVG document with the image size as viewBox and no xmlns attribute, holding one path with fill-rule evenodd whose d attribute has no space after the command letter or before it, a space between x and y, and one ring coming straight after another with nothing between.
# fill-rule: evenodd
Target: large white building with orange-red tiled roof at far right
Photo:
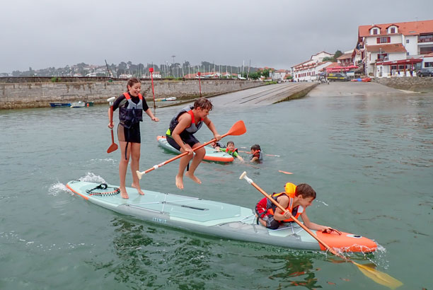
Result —
<instances>
[{"instance_id":1,"label":"large white building with orange-red tiled roof at far right","mask_svg":"<svg viewBox=\"0 0 433 290\"><path fill-rule=\"evenodd\" d=\"M361 25L357 49L369 76L413 76L433 52L433 20Z\"/></svg>"}]
</instances>

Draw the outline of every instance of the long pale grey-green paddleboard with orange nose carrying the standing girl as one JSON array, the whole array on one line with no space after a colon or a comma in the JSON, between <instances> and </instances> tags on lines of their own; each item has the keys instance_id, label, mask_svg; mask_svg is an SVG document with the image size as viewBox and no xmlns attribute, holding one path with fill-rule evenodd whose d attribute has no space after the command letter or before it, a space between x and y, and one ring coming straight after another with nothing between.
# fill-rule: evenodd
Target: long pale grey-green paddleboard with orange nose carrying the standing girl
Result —
<instances>
[{"instance_id":1,"label":"long pale grey-green paddleboard with orange nose carrying the standing girl","mask_svg":"<svg viewBox=\"0 0 433 290\"><path fill-rule=\"evenodd\" d=\"M256 223L253 209L223 202L127 187L123 199L117 186L72 180L69 190L100 207L164 226L183 228L221 238L244 240L303 250L326 250L298 224L288 223L271 230ZM331 248L369 253L376 250L373 240L352 233L316 233Z\"/></svg>"}]
</instances>

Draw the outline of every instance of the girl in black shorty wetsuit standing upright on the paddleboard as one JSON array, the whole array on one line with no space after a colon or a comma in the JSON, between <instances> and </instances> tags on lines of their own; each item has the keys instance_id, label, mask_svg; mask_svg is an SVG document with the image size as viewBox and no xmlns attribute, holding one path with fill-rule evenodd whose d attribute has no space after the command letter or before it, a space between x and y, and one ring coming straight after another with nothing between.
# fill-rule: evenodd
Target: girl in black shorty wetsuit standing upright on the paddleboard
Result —
<instances>
[{"instance_id":1,"label":"girl in black shorty wetsuit standing upright on the paddleboard","mask_svg":"<svg viewBox=\"0 0 433 290\"><path fill-rule=\"evenodd\" d=\"M119 108L119 125L117 126L117 138L119 139L120 151L122 156L119 163L119 177L120 177L120 195L123 198L129 198L125 186L126 172L129 163L129 156L131 156L131 170L132 170L132 187L137 189L140 195L144 195L140 188L137 170L139 170L140 161L140 123L143 122L143 111L151 118L152 121L158 122L159 119L149 109L146 100L143 98L140 91L142 90L142 83L136 78L128 80L127 92L123 93L116 98L112 105L112 110ZM108 118L111 118L111 110L108 110ZM112 129L113 124L108 124Z\"/></svg>"}]
</instances>

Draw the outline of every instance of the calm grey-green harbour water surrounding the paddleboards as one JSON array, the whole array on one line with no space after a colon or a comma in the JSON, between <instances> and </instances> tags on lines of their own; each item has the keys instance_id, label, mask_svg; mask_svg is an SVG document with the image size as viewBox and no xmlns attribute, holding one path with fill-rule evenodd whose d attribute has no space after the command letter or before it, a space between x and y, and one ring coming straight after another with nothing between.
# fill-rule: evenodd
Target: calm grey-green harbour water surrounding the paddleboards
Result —
<instances>
[{"instance_id":1,"label":"calm grey-green harbour water surrounding the paddleboards","mask_svg":"<svg viewBox=\"0 0 433 290\"><path fill-rule=\"evenodd\" d=\"M142 170L172 157L156 135L177 110L142 124ZM143 188L253 207L261 195L238 180L243 170L267 192L308 182L318 192L311 220L381 245L353 260L400 289L433 288L433 95L312 94L209 117L221 134L244 120L248 132L226 141L280 157L258 168L202 163L203 184L185 180L183 192L173 162L144 175ZM107 124L105 106L0 111L0 289L386 289L333 255L163 228L72 195L64 185L75 178L119 183ZM197 137L212 138L206 128Z\"/></svg>"}]
</instances>

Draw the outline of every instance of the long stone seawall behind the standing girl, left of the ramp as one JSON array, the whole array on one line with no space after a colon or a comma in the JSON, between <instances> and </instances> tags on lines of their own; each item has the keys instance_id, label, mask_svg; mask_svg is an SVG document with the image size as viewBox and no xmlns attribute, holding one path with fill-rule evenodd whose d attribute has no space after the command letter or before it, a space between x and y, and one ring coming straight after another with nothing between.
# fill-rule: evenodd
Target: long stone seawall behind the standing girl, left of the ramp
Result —
<instances>
[{"instance_id":1,"label":"long stone seawall behind the standing girl, left of the ramp","mask_svg":"<svg viewBox=\"0 0 433 290\"><path fill-rule=\"evenodd\" d=\"M26 78L28 79L28 78ZM202 79L202 95L215 95L263 86L262 81ZM106 103L107 98L126 91L127 80L35 81L13 83L0 81L0 109L44 108L50 103L78 100ZM198 79L155 80L155 98L196 98L200 95ZM151 80L142 80L142 93L152 100Z\"/></svg>"}]
</instances>

